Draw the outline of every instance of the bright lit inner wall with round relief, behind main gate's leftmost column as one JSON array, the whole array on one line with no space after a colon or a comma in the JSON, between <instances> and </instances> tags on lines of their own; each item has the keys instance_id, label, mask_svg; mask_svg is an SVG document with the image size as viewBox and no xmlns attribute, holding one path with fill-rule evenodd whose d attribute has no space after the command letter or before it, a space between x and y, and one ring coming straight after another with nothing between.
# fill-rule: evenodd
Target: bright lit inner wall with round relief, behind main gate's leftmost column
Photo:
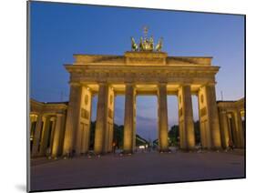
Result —
<instances>
[{"instance_id":1,"label":"bright lit inner wall with round relief, behind main gate's leftmost column","mask_svg":"<svg viewBox=\"0 0 256 193\"><path fill-rule=\"evenodd\" d=\"M76 154L85 154L89 147L89 132L91 122L92 93L90 88L82 86L80 98L80 112L78 114Z\"/></svg>"}]
</instances>

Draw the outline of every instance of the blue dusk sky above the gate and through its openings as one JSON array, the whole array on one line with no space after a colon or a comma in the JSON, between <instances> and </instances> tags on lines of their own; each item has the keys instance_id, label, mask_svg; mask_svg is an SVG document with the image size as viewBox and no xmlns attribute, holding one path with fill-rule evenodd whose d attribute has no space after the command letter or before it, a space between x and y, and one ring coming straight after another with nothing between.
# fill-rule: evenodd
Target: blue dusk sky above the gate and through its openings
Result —
<instances>
[{"instance_id":1,"label":"blue dusk sky above the gate and through its openings","mask_svg":"<svg viewBox=\"0 0 256 193\"><path fill-rule=\"evenodd\" d=\"M63 66L73 54L123 55L130 36L138 41L143 26L155 41L164 38L169 56L213 56L220 66L217 99L244 96L244 16L163 11L94 5L30 2L30 97L42 102L67 101L69 75ZM116 97L115 123L123 124L124 96ZM197 97L192 97L194 120ZM97 97L93 98L92 120ZM168 96L169 127L178 123L178 103ZM137 132L157 137L157 96L137 97Z\"/></svg>"}]
</instances>

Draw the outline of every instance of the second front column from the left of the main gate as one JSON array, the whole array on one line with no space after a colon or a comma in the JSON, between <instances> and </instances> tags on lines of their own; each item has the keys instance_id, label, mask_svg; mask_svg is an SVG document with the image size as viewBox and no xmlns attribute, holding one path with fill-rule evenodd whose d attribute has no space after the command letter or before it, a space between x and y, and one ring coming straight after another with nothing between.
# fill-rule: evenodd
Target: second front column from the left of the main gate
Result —
<instances>
[{"instance_id":1,"label":"second front column from the left of the main gate","mask_svg":"<svg viewBox=\"0 0 256 193\"><path fill-rule=\"evenodd\" d=\"M96 154L105 152L105 136L108 116L108 85L100 83L97 96L97 119L95 129L94 151Z\"/></svg>"}]
</instances>

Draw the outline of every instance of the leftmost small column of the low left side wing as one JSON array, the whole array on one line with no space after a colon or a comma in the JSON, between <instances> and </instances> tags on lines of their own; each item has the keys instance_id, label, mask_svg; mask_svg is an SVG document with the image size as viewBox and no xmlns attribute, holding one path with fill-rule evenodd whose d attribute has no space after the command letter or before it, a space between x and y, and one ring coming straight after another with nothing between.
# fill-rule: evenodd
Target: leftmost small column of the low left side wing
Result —
<instances>
[{"instance_id":1,"label":"leftmost small column of the low left side wing","mask_svg":"<svg viewBox=\"0 0 256 193\"><path fill-rule=\"evenodd\" d=\"M38 115L36 120L36 131L35 131L34 140L33 140L32 157L36 157L38 154L38 146L39 146L40 134L42 132L42 126L43 126L42 116Z\"/></svg>"}]
</instances>

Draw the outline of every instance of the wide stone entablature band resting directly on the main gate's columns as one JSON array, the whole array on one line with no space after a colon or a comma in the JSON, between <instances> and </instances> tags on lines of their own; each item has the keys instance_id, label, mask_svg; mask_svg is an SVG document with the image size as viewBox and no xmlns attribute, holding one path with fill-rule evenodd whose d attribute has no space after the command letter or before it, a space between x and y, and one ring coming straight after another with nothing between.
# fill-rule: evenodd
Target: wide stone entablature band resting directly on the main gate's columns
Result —
<instances>
[{"instance_id":1,"label":"wide stone entablature band resting directly on the main gate's columns","mask_svg":"<svg viewBox=\"0 0 256 193\"><path fill-rule=\"evenodd\" d=\"M73 82L215 83L218 66L66 66Z\"/></svg>"}]
</instances>

